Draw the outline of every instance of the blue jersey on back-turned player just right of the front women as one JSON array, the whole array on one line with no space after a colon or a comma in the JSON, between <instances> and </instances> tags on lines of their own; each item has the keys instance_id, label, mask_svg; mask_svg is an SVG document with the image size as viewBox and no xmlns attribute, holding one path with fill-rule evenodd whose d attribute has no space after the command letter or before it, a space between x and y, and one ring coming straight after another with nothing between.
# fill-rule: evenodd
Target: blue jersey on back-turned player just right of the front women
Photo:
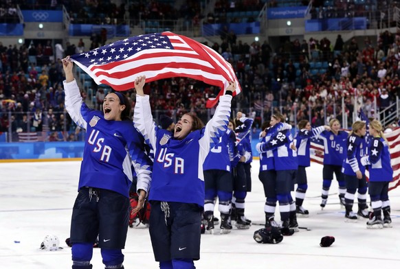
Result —
<instances>
[{"instance_id":1,"label":"blue jersey on back-turned player just right of the front women","mask_svg":"<svg viewBox=\"0 0 400 269\"><path fill-rule=\"evenodd\" d=\"M236 155L236 135L230 129L227 129L225 134L219 138L214 148L208 152L203 164L203 170L225 170L231 172L231 161Z\"/></svg>"}]
</instances>

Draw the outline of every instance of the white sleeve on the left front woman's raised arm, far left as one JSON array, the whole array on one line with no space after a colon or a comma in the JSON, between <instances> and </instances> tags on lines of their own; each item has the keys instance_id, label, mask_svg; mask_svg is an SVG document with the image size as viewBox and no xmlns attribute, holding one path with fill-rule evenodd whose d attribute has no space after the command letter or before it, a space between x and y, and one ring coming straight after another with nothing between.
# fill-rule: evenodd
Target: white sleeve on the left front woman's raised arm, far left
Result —
<instances>
[{"instance_id":1,"label":"white sleeve on the left front woman's raised arm, far left","mask_svg":"<svg viewBox=\"0 0 400 269\"><path fill-rule=\"evenodd\" d=\"M78 84L76 84L76 80L71 82L63 81L64 91L65 91L65 109L71 119L78 125L79 127L86 130L87 122L82 117L82 113L80 113L80 108L82 107L82 96L80 96L80 91Z\"/></svg>"}]
</instances>

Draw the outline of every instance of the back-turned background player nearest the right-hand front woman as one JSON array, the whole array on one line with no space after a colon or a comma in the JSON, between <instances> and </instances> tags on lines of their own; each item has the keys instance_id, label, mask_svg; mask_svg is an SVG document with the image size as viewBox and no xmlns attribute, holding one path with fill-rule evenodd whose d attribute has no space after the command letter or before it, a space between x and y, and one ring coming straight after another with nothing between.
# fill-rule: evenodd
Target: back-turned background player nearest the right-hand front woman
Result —
<instances>
[{"instance_id":1,"label":"back-turned background player nearest the right-hand front woman","mask_svg":"<svg viewBox=\"0 0 400 269\"><path fill-rule=\"evenodd\" d=\"M228 125L227 131L219 138L214 148L210 150L203 164L205 201L205 229L213 233L214 229L214 200L218 196L219 212L221 213L221 233L230 233L230 210L232 207L232 176L231 161L236 155L236 135Z\"/></svg>"}]
</instances>

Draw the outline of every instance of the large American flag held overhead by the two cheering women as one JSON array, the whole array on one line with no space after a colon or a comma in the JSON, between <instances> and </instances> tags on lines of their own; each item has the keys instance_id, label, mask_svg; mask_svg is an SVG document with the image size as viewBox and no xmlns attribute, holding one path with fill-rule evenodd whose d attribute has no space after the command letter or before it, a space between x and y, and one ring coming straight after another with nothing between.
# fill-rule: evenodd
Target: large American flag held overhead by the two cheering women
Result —
<instances>
[{"instance_id":1,"label":"large American flag held overhead by the two cheering women","mask_svg":"<svg viewBox=\"0 0 400 269\"><path fill-rule=\"evenodd\" d=\"M71 60L88 73L97 84L107 84L116 91L133 88L135 78L146 75L146 82L163 78L186 77L221 87L228 82L241 87L232 65L214 49L196 40L172 32L143 34L119 40L91 51L71 56ZM211 108L218 98L210 98Z\"/></svg>"}]
</instances>

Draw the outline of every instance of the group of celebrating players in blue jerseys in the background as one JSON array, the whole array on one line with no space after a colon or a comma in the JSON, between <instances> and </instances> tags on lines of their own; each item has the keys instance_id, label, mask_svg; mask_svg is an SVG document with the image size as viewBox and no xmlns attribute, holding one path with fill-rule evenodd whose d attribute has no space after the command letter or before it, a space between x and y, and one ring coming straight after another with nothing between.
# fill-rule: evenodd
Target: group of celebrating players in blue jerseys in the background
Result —
<instances>
[{"instance_id":1,"label":"group of celebrating players in blue jerseys in the background","mask_svg":"<svg viewBox=\"0 0 400 269\"><path fill-rule=\"evenodd\" d=\"M232 229L228 218L230 213L232 222L238 229L247 229L251 223L244 216L244 202L246 192L251 191L249 165L252 154L249 126L252 125L252 119L238 113L238 120L243 124L234 129L234 121L230 121L230 130L210 151L203 165L206 230L214 229L212 220L216 196L219 198L221 212L221 233L227 233L227 230ZM283 235L292 235L298 231L296 213L309 215L309 211L302 207L302 203L308 187L305 168L310 166L310 144L313 137L319 137L324 142L321 207L324 208L326 205L335 174L339 184L340 203L346 208L346 221L354 222L359 215L362 218L370 218L367 228L391 227L388 183L392 180L393 171L388 142L379 121L373 120L369 123L369 135L367 135L364 121L356 121L348 133L340 130L340 122L337 119L331 120L329 126L318 128L311 128L309 121L302 120L298 124L299 131L294 139L291 135L291 126L285 124L285 119L280 114L273 115L271 121L265 123L263 127L265 128L260 132L260 143L256 148L260 154L259 179L263 183L266 197L264 209L267 228L278 226L274 220L277 202L279 202ZM232 145L232 140L235 139L232 139L232 130L238 137L236 148L234 144ZM366 181L366 166L370 172L369 184ZM296 184L295 201L291 191ZM372 213L368 212L366 202L368 185ZM356 191L357 213L353 212ZM384 220L381 218L381 211L384 213Z\"/></svg>"}]
</instances>

